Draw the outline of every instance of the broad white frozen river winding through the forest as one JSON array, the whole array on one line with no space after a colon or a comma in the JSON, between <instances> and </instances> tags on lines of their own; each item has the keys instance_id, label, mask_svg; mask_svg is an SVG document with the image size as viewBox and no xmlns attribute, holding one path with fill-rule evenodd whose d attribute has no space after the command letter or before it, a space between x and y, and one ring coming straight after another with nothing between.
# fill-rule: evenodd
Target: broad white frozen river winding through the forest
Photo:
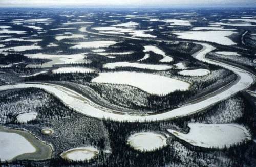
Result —
<instances>
[{"instance_id":1,"label":"broad white frozen river winding through the forest","mask_svg":"<svg viewBox=\"0 0 256 167\"><path fill-rule=\"evenodd\" d=\"M53 94L57 98L59 98L65 105L74 109L75 111L99 119L110 119L115 121L129 121L129 122L150 122L150 121L161 121L161 120L168 120L178 117L184 117L191 114L195 114L208 108L222 100L225 100L236 94L239 91L247 89L252 83L254 83L255 76L249 73L246 70L240 69L238 67L234 67L225 63L218 62L216 60L210 60L205 58L205 55L213 50L215 50L214 46L210 44L195 42L203 46L203 48L198 51L197 53L193 54L193 57L199 61L207 62L209 64L215 64L222 66L226 69L233 71L236 75L240 77L240 80L230 86L228 89L216 94L216 96L210 97L205 99L201 102L194 103L194 104L187 104L185 106L181 106L180 108L176 108L173 110L166 111L164 113L154 114L154 115L127 115L121 114L115 110L111 110L108 108L104 108L102 106L98 106L88 98L82 96L81 94L68 89L63 86L54 85L54 84L46 84L46 83L21 83L21 84L14 84L14 85L3 85L0 86L1 90L8 90L8 89L17 89L17 88L28 88L28 87L36 87L42 88L47 92Z\"/></svg>"}]
</instances>

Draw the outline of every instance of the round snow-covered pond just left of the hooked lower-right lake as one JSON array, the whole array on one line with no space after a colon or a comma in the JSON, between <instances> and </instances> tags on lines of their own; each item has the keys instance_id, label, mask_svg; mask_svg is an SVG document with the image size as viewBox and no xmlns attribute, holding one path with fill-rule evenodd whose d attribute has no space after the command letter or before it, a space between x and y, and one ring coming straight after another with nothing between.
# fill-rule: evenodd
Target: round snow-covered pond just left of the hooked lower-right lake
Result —
<instances>
[{"instance_id":1,"label":"round snow-covered pond just left of the hooked lower-right lake","mask_svg":"<svg viewBox=\"0 0 256 167\"><path fill-rule=\"evenodd\" d=\"M153 132L135 133L127 139L127 143L140 151L154 151L167 145L165 136Z\"/></svg>"}]
</instances>

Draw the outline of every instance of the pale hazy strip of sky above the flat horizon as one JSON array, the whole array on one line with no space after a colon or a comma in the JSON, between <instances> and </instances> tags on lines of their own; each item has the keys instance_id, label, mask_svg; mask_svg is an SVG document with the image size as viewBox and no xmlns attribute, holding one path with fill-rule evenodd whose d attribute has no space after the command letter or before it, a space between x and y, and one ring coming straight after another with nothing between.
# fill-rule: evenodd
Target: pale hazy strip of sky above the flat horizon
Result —
<instances>
[{"instance_id":1,"label":"pale hazy strip of sky above the flat horizon","mask_svg":"<svg viewBox=\"0 0 256 167\"><path fill-rule=\"evenodd\" d=\"M256 7L255 0L0 0L0 7L30 6L121 7Z\"/></svg>"}]
</instances>

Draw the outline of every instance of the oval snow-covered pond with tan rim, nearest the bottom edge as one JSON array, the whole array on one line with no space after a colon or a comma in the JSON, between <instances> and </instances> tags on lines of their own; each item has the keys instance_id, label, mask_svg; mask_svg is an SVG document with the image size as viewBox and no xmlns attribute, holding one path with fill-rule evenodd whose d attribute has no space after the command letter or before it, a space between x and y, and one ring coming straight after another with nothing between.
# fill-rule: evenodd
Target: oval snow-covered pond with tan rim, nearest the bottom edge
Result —
<instances>
[{"instance_id":1,"label":"oval snow-covered pond with tan rim, nearest the bottom edge","mask_svg":"<svg viewBox=\"0 0 256 167\"><path fill-rule=\"evenodd\" d=\"M94 147L79 147L67 150L60 154L63 159L72 161L85 161L95 158L99 154L98 149Z\"/></svg>"}]
</instances>

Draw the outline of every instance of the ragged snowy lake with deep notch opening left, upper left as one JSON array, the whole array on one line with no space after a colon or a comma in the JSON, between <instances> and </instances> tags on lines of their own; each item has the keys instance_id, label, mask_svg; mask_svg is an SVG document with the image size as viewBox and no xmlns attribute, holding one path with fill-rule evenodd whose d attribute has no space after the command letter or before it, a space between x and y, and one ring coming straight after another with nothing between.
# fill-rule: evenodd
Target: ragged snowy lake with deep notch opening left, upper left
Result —
<instances>
[{"instance_id":1,"label":"ragged snowy lake with deep notch opening left, upper left","mask_svg":"<svg viewBox=\"0 0 256 167\"><path fill-rule=\"evenodd\" d=\"M52 61L43 63L43 64L29 64L27 68L39 67L39 68L47 68L52 67L55 64L79 64L79 63L87 63L87 60L84 59L85 55L74 54L74 55L48 55L44 53L37 54L25 54L24 56L30 59L49 59Z\"/></svg>"}]
</instances>

